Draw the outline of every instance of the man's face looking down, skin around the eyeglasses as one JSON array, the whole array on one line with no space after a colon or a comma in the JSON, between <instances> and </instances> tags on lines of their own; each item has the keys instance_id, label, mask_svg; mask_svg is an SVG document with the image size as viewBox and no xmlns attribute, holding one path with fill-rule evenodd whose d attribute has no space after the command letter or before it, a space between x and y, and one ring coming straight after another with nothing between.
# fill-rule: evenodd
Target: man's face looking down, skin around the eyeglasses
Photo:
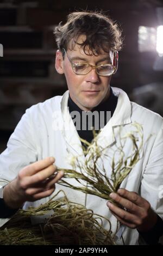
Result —
<instances>
[{"instance_id":1,"label":"man's face looking down, skin around the eyeglasses","mask_svg":"<svg viewBox=\"0 0 163 256\"><path fill-rule=\"evenodd\" d=\"M99 56L88 56L84 53L83 48L77 44L73 50L68 49L67 54L73 63L87 62L91 65L100 65L112 64L113 60L112 52L110 52L110 54L103 52ZM111 76L99 76L95 69L92 69L86 75L76 75L72 70L71 63L66 54L64 60L62 59L61 61L61 68L62 73L64 73L66 77L71 99L79 108L84 111L90 111L109 97Z\"/></svg>"}]
</instances>

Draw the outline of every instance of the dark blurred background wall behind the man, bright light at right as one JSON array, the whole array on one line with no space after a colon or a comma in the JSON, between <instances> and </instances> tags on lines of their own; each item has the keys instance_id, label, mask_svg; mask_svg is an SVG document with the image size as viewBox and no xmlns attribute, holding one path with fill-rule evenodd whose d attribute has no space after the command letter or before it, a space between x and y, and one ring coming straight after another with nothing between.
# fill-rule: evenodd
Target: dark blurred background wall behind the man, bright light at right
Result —
<instances>
[{"instance_id":1,"label":"dark blurred background wall behind the man, bright light at right","mask_svg":"<svg viewBox=\"0 0 163 256\"><path fill-rule=\"evenodd\" d=\"M67 89L54 68L53 29L74 10L102 9L118 22L124 45L111 85L163 115L162 8L157 0L0 1L0 152L28 107Z\"/></svg>"}]
</instances>

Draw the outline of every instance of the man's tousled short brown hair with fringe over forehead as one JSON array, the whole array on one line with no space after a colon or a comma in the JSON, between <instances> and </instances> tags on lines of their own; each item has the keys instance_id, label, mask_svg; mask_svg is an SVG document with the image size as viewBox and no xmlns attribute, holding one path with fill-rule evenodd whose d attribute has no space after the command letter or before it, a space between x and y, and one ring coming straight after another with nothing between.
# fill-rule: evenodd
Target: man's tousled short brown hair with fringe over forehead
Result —
<instances>
[{"instance_id":1,"label":"man's tousled short brown hair with fringe over forehead","mask_svg":"<svg viewBox=\"0 0 163 256\"><path fill-rule=\"evenodd\" d=\"M89 49L94 55L109 51L120 51L122 48L121 31L116 22L96 11L73 12L67 16L67 22L59 23L54 29L59 50L70 48L75 44L87 54ZM85 35L83 42L78 42L80 35ZM87 54L88 55L88 54Z\"/></svg>"}]
</instances>

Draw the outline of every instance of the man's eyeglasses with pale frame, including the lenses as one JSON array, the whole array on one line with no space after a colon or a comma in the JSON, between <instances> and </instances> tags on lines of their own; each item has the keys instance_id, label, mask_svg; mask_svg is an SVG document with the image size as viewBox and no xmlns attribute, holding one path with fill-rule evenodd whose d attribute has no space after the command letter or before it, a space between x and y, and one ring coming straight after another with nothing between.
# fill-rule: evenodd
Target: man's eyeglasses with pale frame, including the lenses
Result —
<instances>
[{"instance_id":1,"label":"man's eyeglasses with pale frame, including the lenses","mask_svg":"<svg viewBox=\"0 0 163 256\"><path fill-rule=\"evenodd\" d=\"M96 69L97 74L100 76L111 76L112 74L115 74L117 70L116 66L111 64L101 64L101 65L93 66L86 62L73 63L71 58L68 56L65 48L62 48L62 50L64 50L64 52L66 53L66 56L69 62L71 63L72 70L76 75L86 75L92 69Z\"/></svg>"}]
</instances>

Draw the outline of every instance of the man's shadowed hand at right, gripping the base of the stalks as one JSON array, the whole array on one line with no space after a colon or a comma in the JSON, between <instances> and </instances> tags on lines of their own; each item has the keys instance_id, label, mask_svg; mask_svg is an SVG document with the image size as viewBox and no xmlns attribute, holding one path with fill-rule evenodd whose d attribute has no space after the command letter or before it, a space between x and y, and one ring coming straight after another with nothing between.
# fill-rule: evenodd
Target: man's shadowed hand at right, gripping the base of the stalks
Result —
<instances>
[{"instance_id":1,"label":"man's shadowed hand at right, gripping the base of the stalks","mask_svg":"<svg viewBox=\"0 0 163 256\"><path fill-rule=\"evenodd\" d=\"M111 193L110 197L123 208L107 202L112 214L122 224L129 228L137 228L140 232L146 232L154 227L157 215L149 202L140 197L139 194L120 188L117 193Z\"/></svg>"}]
</instances>

